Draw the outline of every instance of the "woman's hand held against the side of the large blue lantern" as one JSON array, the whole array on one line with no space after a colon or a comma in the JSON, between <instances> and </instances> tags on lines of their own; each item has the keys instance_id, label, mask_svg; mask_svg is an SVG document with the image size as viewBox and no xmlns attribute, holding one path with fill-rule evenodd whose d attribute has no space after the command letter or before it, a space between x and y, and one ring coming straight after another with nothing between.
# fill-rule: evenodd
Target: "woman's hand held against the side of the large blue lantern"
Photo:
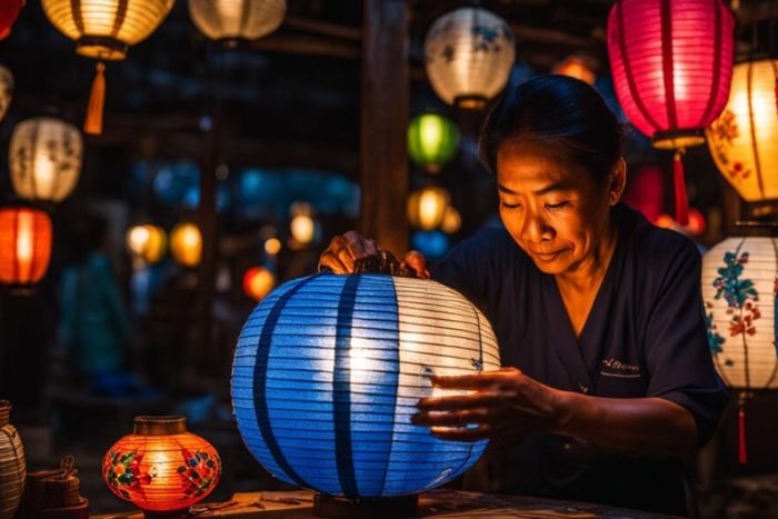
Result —
<instances>
[{"instance_id":1,"label":"woman's hand held against the side of the large blue lantern","mask_svg":"<svg viewBox=\"0 0 778 519\"><path fill-rule=\"evenodd\" d=\"M441 389L472 391L423 398L411 421L431 428L437 438L455 441L517 440L556 432L562 417L562 391L533 380L516 368L479 375L432 377Z\"/></svg>"}]
</instances>

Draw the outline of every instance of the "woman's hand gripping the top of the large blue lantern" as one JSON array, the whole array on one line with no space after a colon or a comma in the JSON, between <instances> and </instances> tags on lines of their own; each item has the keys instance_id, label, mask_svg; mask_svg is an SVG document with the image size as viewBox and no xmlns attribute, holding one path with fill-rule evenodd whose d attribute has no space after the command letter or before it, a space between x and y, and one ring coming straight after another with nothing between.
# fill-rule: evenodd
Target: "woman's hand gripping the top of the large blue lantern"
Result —
<instances>
[{"instance_id":1,"label":"woman's hand gripping the top of the large blue lantern","mask_svg":"<svg viewBox=\"0 0 778 519\"><path fill-rule=\"evenodd\" d=\"M355 261L370 256L378 256L380 249L375 240L365 238L357 231L338 234L319 257L319 268L327 267L335 273L353 272ZM419 278L429 279L427 259L416 250L409 250L402 257L401 265L412 269Z\"/></svg>"}]
</instances>

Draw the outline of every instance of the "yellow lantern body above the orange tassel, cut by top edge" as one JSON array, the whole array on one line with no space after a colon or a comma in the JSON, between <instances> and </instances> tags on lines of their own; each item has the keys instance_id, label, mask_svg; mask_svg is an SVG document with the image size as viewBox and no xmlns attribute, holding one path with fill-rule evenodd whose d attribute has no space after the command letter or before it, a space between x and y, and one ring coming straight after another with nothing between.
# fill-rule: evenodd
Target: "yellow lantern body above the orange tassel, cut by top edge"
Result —
<instances>
[{"instance_id":1,"label":"yellow lantern body above the orange tassel, cut by top edge","mask_svg":"<svg viewBox=\"0 0 778 519\"><path fill-rule=\"evenodd\" d=\"M164 20L173 0L41 0L49 21L76 40L81 56L121 60L129 46L148 38Z\"/></svg>"}]
</instances>

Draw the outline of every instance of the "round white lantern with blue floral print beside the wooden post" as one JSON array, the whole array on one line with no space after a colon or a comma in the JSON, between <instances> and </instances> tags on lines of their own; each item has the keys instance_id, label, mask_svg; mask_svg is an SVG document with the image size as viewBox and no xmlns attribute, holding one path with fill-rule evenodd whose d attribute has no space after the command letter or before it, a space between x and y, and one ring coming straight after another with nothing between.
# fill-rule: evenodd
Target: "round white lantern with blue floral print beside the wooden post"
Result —
<instances>
[{"instance_id":1,"label":"round white lantern with blue floral print beside the wooden post","mask_svg":"<svg viewBox=\"0 0 778 519\"><path fill-rule=\"evenodd\" d=\"M449 104L483 108L508 82L516 41L503 19L481 8L460 8L432 23L425 38L427 77Z\"/></svg>"}]
</instances>

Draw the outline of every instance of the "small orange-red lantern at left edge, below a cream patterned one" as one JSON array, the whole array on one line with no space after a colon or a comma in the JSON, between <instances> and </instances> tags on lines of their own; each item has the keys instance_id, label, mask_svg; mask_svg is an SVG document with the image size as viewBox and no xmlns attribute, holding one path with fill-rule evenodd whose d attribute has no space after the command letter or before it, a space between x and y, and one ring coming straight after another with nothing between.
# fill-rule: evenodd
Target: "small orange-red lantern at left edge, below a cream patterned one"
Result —
<instances>
[{"instance_id":1,"label":"small orange-red lantern at left edge, below a cream patterned one","mask_svg":"<svg viewBox=\"0 0 778 519\"><path fill-rule=\"evenodd\" d=\"M0 208L0 282L14 287L37 283L50 257L49 214L23 206Z\"/></svg>"}]
</instances>

